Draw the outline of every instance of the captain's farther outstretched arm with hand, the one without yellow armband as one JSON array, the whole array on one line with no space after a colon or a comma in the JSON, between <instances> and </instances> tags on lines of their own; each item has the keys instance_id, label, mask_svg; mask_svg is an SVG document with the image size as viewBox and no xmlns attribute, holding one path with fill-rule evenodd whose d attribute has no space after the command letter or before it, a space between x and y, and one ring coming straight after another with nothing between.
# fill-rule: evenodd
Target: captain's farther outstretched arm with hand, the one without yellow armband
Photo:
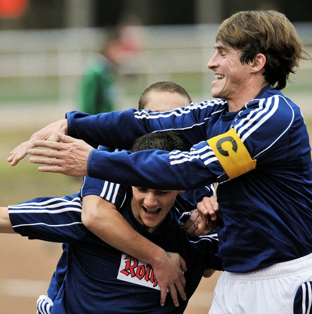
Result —
<instances>
[{"instance_id":1,"label":"captain's farther outstretched arm with hand, the one without yellow armband","mask_svg":"<svg viewBox=\"0 0 312 314\"><path fill-rule=\"evenodd\" d=\"M195 129L199 129L198 133L195 132L195 137L204 135L204 123L202 122L209 117L210 114L206 110L211 107L211 105L207 107L206 102L199 105L193 103L189 107L177 108L172 112L168 112L165 116L147 110L137 111L136 109L122 112L113 111L95 116L72 111L66 114L67 119L49 124L34 133L28 141L21 143L11 152L8 162L11 163L11 166L15 166L27 155L28 149L34 147L34 140L56 140L55 135L58 132L87 142L129 149L135 139L146 133L177 129L183 132L183 137L187 142L194 144L192 133ZM197 114L195 114L195 111ZM123 127L120 128L120 125ZM127 127L127 132L125 132L124 127Z\"/></svg>"}]
</instances>

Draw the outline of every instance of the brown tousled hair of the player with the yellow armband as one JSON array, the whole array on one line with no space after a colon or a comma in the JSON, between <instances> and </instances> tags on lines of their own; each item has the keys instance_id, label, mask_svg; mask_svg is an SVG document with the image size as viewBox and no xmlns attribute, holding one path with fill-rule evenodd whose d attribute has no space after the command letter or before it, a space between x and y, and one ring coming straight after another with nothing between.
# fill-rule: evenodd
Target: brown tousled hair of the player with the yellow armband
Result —
<instances>
[{"instance_id":1,"label":"brown tousled hair of the player with the yellow armband","mask_svg":"<svg viewBox=\"0 0 312 314\"><path fill-rule=\"evenodd\" d=\"M241 51L241 63L252 63L257 54L266 56L264 77L270 86L283 89L299 60L311 57L286 16L274 10L237 12L218 28L216 42Z\"/></svg>"}]
</instances>

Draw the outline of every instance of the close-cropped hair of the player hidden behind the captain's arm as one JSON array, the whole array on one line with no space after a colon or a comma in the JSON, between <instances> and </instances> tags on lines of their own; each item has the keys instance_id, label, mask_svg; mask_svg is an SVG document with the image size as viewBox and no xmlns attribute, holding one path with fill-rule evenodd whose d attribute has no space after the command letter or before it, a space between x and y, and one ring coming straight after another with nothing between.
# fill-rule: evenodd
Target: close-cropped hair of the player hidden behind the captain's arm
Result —
<instances>
[{"instance_id":1,"label":"close-cropped hair of the player hidden behind the captain's arm","mask_svg":"<svg viewBox=\"0 0 312 314\"><path fill-rule=\"evenodd\" d=\"M138 110L142 110L146 107L148 103L148 93L151 91L178 93L181 96L186 97L189 100L189 103L192 102L190 95L182 86L170 81L161 81L151 84L141 93L138 98Z\"/></svg>"}]
</instances>

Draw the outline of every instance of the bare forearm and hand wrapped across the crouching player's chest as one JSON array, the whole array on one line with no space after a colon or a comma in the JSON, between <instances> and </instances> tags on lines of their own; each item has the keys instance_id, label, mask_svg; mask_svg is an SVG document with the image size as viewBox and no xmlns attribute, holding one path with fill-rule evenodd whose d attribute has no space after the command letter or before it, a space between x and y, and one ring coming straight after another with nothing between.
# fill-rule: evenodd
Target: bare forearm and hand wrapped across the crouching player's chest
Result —
<instances>
[{"instance_id":1,"label":"bare forearm and hand wrapped across the crouching player's chest","mask_svg":"<svg viewBox=\"0 0 312 314\"><path fill-rule=\"evenodd\" d=\"M83 224L100 239L153 267L160 286L161 305L165 302L167 288L176 306L178 306L177 293L183 300L186 299L185 278L181 270L187 269L182 257L176 253L166 253L137 233L112 203L100 196L84 196L81 219Z\"/></svg>"}]
</instances>

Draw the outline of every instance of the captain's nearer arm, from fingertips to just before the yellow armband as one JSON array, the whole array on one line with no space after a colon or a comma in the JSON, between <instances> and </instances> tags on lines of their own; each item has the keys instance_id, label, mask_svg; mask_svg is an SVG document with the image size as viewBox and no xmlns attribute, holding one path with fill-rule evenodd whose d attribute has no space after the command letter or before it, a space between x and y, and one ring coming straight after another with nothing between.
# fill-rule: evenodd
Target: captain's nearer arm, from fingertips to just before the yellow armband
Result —
<instances>
[{"instance_id":1,"label":"captain's nearer arm, from fingertips to just before the yellow armband","mask_svg":"<svg viewBox=\"0 0 312 314\"><path fill-rule=\"evenodd\" d=\"M29 159L32 163L45 165L40 166L39 171L76 177L89 175L110 182L160 190L195 189L217 180L215 172L206 166L207 156L213 156L208 154L211 149L207 142L200 142L190 152L149 150L109 153L95 150L73 137L59 134L59 139L62 143L35 141L35 146L52 150L34 148L28 151L33 155ZM219 167L217 159L214 160L216 167ZM153 167L150 167L151 162ZM119 167L117 172L116 165ZM185 167L188 171L185 171ZM196 173L196 176L190 176L190 173Z\"/></svg>"}]
</instances>

